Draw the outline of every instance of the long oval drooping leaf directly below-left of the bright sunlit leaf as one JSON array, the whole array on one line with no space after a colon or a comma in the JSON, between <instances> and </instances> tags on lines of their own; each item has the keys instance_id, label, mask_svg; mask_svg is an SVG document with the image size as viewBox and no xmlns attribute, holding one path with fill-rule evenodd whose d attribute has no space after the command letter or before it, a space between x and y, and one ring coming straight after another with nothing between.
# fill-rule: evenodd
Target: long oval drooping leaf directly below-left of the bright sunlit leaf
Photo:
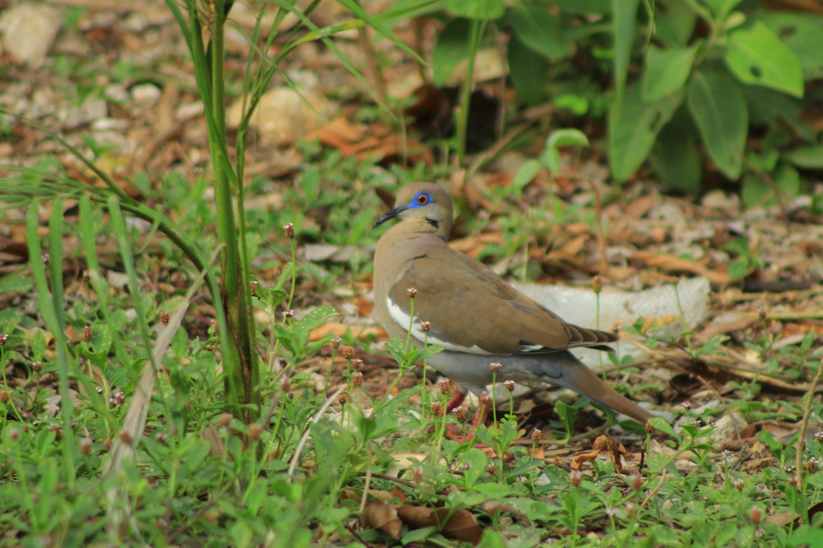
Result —
<instances>
[{"instance_id":1,"label":"long oval drooping leaf directly below-left of the bright sunlit leaf","mask_svg":"<svg viewBox=\"0 0 823 548\"><path fill-rule=\"evenodd\" d=\"M723 71L696 71L689 84L689 111L706 152L736 181L743 168L749 111L740 86Z\"/></svg>"}]
</instances>

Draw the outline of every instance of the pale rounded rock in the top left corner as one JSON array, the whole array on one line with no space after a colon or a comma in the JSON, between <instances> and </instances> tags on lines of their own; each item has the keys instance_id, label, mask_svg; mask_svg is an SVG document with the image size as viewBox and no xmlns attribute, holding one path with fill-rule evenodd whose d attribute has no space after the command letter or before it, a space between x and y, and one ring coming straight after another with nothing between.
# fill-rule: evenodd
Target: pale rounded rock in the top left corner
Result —
<instances>
[{"instance_id":1,"label":"pale rounded rock in the top left corner","mask_svg":"<svg viewBox=\"0 0 823 548\"><path fill-rule=\"evenodd\" d=\"M63 24L62 12L40 2L22 2L0 16L3 50L18 62L40 67Z\"/></svg>"}]
</instances>

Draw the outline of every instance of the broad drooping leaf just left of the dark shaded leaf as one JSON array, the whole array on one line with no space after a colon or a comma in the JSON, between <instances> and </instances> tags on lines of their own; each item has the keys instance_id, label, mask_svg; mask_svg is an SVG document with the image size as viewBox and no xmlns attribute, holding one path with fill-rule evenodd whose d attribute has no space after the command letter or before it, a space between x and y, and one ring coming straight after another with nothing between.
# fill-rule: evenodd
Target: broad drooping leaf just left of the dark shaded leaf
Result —
<instances>
[{"instance_id":1,"label":"broad drooping leaf just left of the dark shaded leaf","mask_svg":"<svg viewBox=\"0 0 823 548\"><path fill-rule=\"evenodd\" d=\"M646 103L639 85L625 90L622 106L612 104L609 110L609 158L611 173L618 181L625 181L640 167L654 145L654 139L672 119L683 94L672 94L665 99Z\"/></svg>"}]
</instances>

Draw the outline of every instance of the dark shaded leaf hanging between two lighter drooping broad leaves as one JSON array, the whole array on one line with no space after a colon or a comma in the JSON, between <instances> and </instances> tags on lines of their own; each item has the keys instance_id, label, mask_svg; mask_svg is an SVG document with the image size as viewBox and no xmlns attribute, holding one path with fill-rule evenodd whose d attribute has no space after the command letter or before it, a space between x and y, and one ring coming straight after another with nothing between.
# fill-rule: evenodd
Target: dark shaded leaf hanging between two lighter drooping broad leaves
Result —
<instances>
[{"instance_id":1,"label":"dark shaded leaf hanging between two lighter drooping broad leaves","mask_svg":"<svg viewBox=\"0 0 823 548\"><path fill-rule=\"evenodd\" d=\"M697 131L686 108L678 108L658 135L652 166L667 186L681 192L700 190L702 170Z\"/></svg>"}]
</instances>

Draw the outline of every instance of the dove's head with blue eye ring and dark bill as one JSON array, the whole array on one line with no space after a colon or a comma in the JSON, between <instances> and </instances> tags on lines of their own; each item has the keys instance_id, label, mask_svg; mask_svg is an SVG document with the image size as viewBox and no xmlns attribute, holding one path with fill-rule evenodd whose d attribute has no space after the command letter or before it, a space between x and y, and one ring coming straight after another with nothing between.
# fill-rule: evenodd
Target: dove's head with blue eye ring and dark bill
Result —
<instances>
[{"instance_id":1,"label":"dove's head with blue eye ring and dark bill","mask_svg":"<svg viewBox=\"0 0 823 548\"><path fill-rule=\"evenodd\" d=\"M402 187L394 207L374 221L374 227L391 219L400 219L409 230L435 233L444 240L452 230L452 199L432 182L416 182Z\"/></svg>"}]
</instances>

